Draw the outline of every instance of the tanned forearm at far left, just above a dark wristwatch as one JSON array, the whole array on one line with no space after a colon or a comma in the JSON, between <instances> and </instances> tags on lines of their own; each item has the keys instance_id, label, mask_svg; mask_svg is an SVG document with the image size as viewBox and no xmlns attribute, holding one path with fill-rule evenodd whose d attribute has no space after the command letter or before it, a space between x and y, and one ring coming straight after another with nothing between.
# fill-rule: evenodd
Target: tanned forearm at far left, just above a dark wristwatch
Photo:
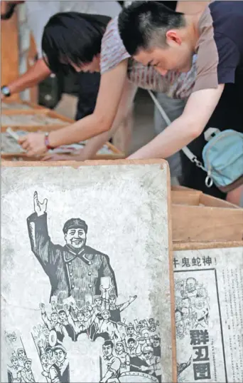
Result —
<instances>
[{"instance_id":1,"label":"tanned forearm at far left, just above a dark wristwatch","mask_svg":"<svg viewBox=\"0 0 243 383\"><path fill-rule=\"evenodd\" d=\"M24 91L26 88L31 88L50 76L50 73L51 71L45 61L43 58L40 58L26 73L23 73L22 76L8 84L9 91L12 95ZM3 98L3 96L1 96L1 98Z\"/></svg>"}]
</instances>

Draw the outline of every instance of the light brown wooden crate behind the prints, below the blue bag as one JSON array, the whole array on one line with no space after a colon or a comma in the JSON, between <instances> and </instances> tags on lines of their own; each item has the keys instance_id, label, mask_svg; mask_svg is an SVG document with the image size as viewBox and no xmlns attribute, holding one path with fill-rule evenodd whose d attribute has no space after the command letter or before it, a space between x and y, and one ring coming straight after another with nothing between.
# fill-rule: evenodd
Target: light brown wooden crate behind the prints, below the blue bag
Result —
<instances>
[{"instance_id":1,"label":"light brown wooden crate behind the prints, below the blue bag","mask_svg":"<svg viewBox=\"0 0 243 383\"><path fill-rule=\"evenodd\" d=\"M172 187L173 242L243 240L243 209L199 190Z\"/></svg>"}]
</instances>

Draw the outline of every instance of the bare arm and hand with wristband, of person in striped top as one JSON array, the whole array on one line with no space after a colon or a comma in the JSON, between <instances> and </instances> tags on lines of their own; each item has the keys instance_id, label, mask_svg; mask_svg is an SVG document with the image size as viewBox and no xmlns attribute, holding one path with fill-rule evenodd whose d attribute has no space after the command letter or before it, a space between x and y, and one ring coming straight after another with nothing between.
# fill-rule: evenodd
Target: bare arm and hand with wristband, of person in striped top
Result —
<instances>
[{"instance_id":1,"label":"bare arm and hand with wristband, of person in striped top","mask_svg":"<svg viewBox=\"0 0 243 383\"><path fill-rule=\"evenodd\" d=\"M50 146L70 145L109 131L119 108L124 83L126 81L127 60L122 61L111 71L102 75L95 111L71 126L51 131ZM29 133L19 139L28 155L47 151L44 133Z\"/></svg>"}]
</instances>

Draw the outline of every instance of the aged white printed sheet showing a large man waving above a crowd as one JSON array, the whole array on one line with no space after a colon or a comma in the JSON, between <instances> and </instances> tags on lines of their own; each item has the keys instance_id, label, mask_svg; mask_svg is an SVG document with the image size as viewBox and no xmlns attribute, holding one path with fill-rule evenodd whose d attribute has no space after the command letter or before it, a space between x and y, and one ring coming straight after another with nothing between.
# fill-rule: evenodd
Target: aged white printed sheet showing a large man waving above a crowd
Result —
<instances>
[{"instance_id":1,"label":"aged white printed sheet showing a large man waving above a crowd","mask_svg":"<svg viewBox=\"0 0 243 383\"><path fill-rule=\"evenodd\" d=\"M172 382L166 163L1 173L1 382Z\"/></svg>"}]
</instances>

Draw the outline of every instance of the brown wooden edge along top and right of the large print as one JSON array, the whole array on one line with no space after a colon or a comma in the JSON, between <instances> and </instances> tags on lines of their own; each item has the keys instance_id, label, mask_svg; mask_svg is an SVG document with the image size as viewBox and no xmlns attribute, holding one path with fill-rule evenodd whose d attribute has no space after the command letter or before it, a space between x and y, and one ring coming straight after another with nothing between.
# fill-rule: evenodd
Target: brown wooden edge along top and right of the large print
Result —
<instances>
[{"instance_id":1,"label":"brown wooden edge along top and right of the large print","mask_svg":"<svg viewBox=\"0 0 243 383\"><path fill-rule=\"evenodd\" d=\"M53 166L68 166L72 168L80 168L80 166L92 166L92 165L147 165L158 164L163 168L166 165L168 169L168 163L166 160L87 160L85 162L70 162L70 161L58 161L58 162L35 162L35 163L16 163L10 161L4 161L4 167L53 167ZM176 367L176 348L175 348L175 297L174 297L174 283L173 283L173 244L172 244L172 228L171 228L171 179L169 171L167 171L167 209L168 209L168 254L169 254L169 279L170 279L170 291L171 291L171 344L172 344L172 375L173 383L177 382L177 367Z\"/></svg>"}]
</instances>

